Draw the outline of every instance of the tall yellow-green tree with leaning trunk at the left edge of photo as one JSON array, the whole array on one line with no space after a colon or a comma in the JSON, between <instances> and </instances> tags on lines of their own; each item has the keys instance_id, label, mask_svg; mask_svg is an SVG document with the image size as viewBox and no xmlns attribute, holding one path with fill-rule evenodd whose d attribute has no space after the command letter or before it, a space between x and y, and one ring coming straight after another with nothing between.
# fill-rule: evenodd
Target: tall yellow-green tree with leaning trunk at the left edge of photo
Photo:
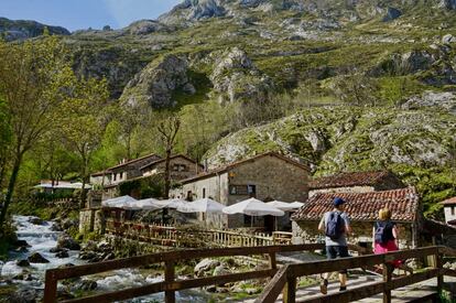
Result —
<instances>
[{"instance_id":1,"label":"tall yellow-green tree with leaning trunk at the left edge of photo","mask_svg":"<svg viewBox=\"0 0 456 303\"><path fill-rule=\"evenodd\" d=\"M54 36L23 43L0 41L0 95L11 117L11 172L0 214L3 224L24 154L54 126L72 69Z\"/></svg>"}]
</instances>

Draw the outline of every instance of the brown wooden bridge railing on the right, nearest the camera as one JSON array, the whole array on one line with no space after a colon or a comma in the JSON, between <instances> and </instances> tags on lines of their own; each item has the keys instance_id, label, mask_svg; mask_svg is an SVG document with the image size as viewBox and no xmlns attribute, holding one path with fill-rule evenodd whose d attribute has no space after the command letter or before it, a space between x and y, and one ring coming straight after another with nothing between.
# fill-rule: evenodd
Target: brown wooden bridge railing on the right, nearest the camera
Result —
<instances>
[{"instance_id":1,"label":"brown wooden bridge railing on the right, nearest the camera","mask_svg":"<svg viewBox=\"0 0 456 303\"><path fill-rule=\"evenodd\" d=\"M366 268L382 264L383 281L374 282L365 286L358 286L348 291L318 295L300 302L351 302L383 293L383 302L391 302L391 291L432 278L437 278L437 291L443 288L443 277L456 277L456 271L443 268L443 256L456 256L456 250L446 247L424 247L413 250L401 250L383 255L368 255L360 257L344 258L337 260L313 261L300 264L287 264L281 268L267 284L262 294L256 303L275 302L283 292L283 302L294 303L296 295L296 279L303 275L334 272L345 269ZM403 278L392 279L392 261L404 259L417 259L434 256L435 268L413 273Z\"/></svg>"}]
</instances>

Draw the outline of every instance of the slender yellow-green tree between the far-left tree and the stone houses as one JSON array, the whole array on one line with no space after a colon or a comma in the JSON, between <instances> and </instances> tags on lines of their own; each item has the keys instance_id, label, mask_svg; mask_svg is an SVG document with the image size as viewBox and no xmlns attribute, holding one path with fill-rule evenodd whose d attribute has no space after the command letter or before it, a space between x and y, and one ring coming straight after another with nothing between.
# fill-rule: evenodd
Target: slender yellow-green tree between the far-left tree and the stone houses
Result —
<instances>
[{"instance_id":1,"label":"slender yellow-green tree between the far-left tree and the stone houses","mask_svg":"<svg viewBox=\"0 0 456 303\"><path fill-rule=\"evenodd\" d=\"M70 95L62 102L63 117L59 130L64 144L74 151L80 161L83 188L88 183L89 165L95 152L101 147L109 122L107 115L108 87L106 80L77 79L73 76ZM80 191L80 206L84 207L86 191Z\"/></svg>"}]
</instances>

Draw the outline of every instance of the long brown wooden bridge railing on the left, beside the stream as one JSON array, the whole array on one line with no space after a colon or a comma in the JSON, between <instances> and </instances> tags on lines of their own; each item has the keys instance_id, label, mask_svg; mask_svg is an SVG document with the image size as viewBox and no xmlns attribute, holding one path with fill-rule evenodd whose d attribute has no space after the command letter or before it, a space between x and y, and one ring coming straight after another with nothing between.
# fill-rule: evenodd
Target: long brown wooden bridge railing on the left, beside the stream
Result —
<instances>
[{"instance_id":1,"label":"long brown wooden bridge railing on the left, beside the stream","mask_svg":"<svg viewBox=\"0 0 456 303\"><path fill-rule=\"evenodd\" d=\"M67 300L64 302L112 302L128 300L137 296L143 296L152 293L165 292L165 302L175 302L175 292L180 290L200 288L214 284L224 284L253 279L264 279L274 277L278 271L276 253L287 251L314 251L323 249L323 244L307 245L287 245L287 246L262 246L262 247L234 247L234 248L213 248L213 249L186 249L177 251L166 251L146 256L138 256L126 259L104 261L99 263L75 266L64 269L50 269L45 274L44 302L57 302L57 283L59 280L89 275L106 271L112 271L126 268L144 267L151 263L164 263L164 281L135 286L131 289L118 290L91 296ZM365 252L365 249L357 246L350 246L350 250ZM229 256L258 256L267 255L269 257L269 268L247 272L236 272L215 277L205 277L187 280L178 280L175 277L174 267L176 262Z\"/></svg>"}]
</instances>

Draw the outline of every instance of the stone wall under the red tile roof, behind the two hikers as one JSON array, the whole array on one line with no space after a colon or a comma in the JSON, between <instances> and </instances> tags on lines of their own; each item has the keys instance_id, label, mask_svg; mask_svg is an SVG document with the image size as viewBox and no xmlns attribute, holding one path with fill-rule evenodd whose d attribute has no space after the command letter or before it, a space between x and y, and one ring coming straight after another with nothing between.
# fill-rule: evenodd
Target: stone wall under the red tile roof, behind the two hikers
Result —
<instances>
[{"instance_id":1,"label":"stone wall under the red tile roof, behind the two hikers","mask_svg":"<svg viewBox=\"0 0 456 303\"><path fill-rule=\"evenodd\" d=\"M319 221L301 220L293 221L293 244L315 244L325 240L324 231L318 230ZM349 244L360 245L370 248L372 246L371 221L351 221L352 235L348 237ZM398 224L399 246L400 249L411 249L416 247L416 240L413 239L414 226L411 223Z\"/></svg>"}]
</instances>

